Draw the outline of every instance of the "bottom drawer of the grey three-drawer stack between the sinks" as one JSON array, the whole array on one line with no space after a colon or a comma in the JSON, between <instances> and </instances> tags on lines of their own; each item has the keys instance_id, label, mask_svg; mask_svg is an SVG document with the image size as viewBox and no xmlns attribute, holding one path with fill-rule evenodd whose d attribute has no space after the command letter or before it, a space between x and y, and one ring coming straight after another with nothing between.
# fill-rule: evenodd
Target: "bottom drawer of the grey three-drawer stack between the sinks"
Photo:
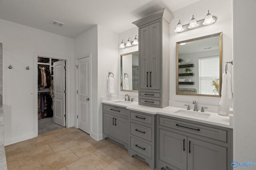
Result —
<instances>
[{"instance_id":1,"label":"bottom drawer of the grey three-drawer stack between the sinks","mask_svg":"<svg viewBox=\"0 0 256 170\"><path fill-rule=\"evenodd\" d=\"M136 152L147 156L148 158L152 158L152 146L148 145L142 141L139 141L134 138L130 138L131 140L131 149L135 150Z\"/></svg>"}]
</instances>

